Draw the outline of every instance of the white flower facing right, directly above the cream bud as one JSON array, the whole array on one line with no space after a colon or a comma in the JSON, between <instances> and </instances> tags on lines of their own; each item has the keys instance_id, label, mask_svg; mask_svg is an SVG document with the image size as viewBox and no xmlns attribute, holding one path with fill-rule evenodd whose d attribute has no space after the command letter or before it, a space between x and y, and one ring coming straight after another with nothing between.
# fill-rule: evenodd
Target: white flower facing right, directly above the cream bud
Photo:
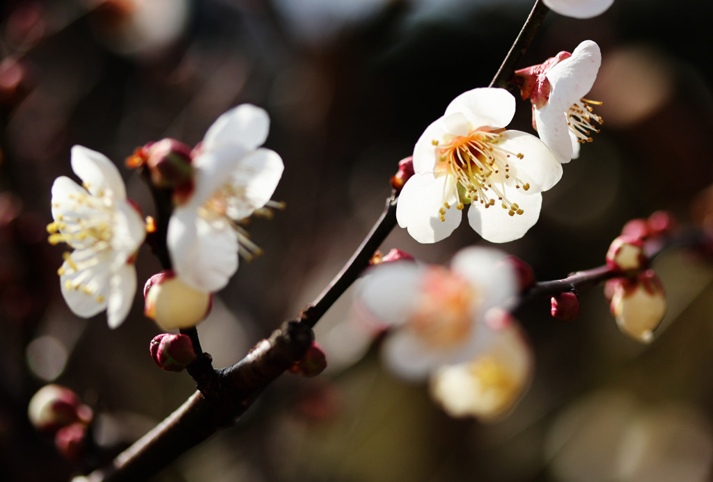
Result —
<instances>
[{"instance_id":1,"label":"white flower facing right, directly above the cream bud","mask_svg":"<svg viewBox=\"0 0 713 482\"><path fill-rule=\"evenodd\" d=\"M270 118L244 104L210 126L193 158L194 189L168 223L168 249L178 276L195 289L214 292L237 271L238 253L260 253L238 221L269 205L282 177L282 158L259 147Z\"/></svg>"}]
</instances>

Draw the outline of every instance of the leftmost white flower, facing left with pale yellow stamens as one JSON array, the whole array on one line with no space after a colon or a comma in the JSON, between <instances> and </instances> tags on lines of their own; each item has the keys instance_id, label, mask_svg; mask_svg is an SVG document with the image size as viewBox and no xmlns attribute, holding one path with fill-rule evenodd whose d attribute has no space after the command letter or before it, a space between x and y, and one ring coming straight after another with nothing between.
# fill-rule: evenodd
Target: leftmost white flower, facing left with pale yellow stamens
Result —
<instances>
[{"instance_id":1,"label":"leftmost white flower, facing left with pale yellow stamens","mask_svg":"<svg viewBox=\"0 0 713 482\"><path fill-rule=\"evenodd\" d=\"M68 177L52 185L49 242L67 243L59 268L62 295L78 316L106 310L110 328L128 315L136 291L135 253L146 236L137 209L126 199L116 166L103 154L72 147L72 170L82 186Z\"/></svg>"}]
</instances>

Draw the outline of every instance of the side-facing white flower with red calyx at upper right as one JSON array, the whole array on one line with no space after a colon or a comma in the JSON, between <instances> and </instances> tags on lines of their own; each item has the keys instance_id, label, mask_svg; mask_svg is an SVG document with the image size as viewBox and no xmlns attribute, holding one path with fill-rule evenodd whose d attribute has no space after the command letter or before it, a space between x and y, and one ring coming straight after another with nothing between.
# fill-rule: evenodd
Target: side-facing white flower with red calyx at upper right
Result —
<instances>
[{"instance_id":1,"label":"side-facing white flower with red calyx at upper right","mask_svg":"<svg viewBox=\"0 0 713 482\"><path fill-rule=\"evenodd\" d=\"M591 142L591 132L599 132L592 122L601 125L602 118L590 105L600 103L583 97L594 85L601 63L599 46L586 40L571 54L560 52L515 72L523 99L529 98L533 106L533 127L560 162L579 157L580 142Z\"/></svg>"}]
</instances>

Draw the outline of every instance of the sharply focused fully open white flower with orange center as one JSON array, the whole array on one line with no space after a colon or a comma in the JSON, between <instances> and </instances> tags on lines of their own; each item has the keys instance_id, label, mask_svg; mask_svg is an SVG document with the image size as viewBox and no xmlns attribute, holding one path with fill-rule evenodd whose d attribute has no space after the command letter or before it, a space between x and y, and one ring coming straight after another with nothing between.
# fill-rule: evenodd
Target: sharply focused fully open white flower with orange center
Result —
<instances>
[{"instance_id":1,"label":"sharply focused fully open white flower with orange center","mask_svg":"<svg viewBox=\"0 0 713 482\"><path fill-rule=\"evenodd\" d=\"M522 237L540 216L540 192L562 176L557 158L525 132L505 130L515 113L507 90L478 88L458 95L414 147L414 170L396 207L399 226L434 243L461 224L504 243Z\"/></svg>"}]
</instances>

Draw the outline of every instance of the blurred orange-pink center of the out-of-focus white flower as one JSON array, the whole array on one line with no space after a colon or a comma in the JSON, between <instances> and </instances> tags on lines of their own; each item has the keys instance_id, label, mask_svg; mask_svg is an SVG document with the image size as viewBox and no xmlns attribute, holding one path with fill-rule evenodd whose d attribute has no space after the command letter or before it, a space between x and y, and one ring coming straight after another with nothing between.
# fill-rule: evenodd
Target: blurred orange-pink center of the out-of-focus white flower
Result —
<instances>
[{"instance_id":1,"label":"blurred orange-pink center of the out-of-focus white flower","mask_svg":"<svg viewBox=\"0 0 713 482\"><path fill-rule=\"evenodd\" d=\"M439 266L428 268L422 283L409 327L428 345L441 349L461 345L474 327L478 293L466 280Z\"/></svg>"}]
</instances>

